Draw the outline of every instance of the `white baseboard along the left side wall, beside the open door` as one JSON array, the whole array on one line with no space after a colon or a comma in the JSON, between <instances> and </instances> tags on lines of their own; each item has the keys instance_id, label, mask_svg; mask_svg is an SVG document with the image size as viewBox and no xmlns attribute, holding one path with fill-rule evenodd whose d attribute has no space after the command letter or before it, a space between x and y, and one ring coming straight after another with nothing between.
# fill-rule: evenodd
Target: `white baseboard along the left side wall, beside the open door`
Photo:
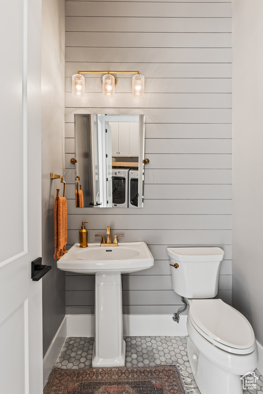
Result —
<instances>
[{"instance_id":1,"label":"white baseboard along the left side wall, beside the open door","mask_svg":"<svg viewBox=\"0 0 263 394\"><path fill-rule=\"evenodd\" d=\"M64 317L43 359L43 387L48 380L67 338L67 316Z\"/></svg>"}]
</instances>

